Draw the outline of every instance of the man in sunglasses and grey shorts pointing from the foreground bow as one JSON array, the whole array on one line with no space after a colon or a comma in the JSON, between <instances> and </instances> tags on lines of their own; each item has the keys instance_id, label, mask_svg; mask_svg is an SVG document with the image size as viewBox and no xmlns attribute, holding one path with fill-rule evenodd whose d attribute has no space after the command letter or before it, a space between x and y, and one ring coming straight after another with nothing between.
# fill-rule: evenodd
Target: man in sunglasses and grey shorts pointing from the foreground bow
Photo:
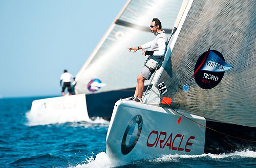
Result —
<instances>
[{"instance_id":1,"label":"man in sunglasses and grey shorts pointing from the foreground bow","mask_svg":"<svg viewBox=\"0 0 256 168\"><path fill-rule=\"evenodd\" d=\"M142 49L142 55L148 56L142 71L137 77L136 90L134 96L131 98L131 100L136 102L141 102L144 81L150 79L152 74L156 71L157 66L163 61L168 43L168 38L164 33L164 30L162 30L162 25L158 18L153 18L150 25L150 30L156 35L156 38L153 41L147 42L138 47L128 47L129 52L134 50L135 53L137 50ZM146 51L145 49L148 48L150 48L150 50Z\"/></svg>"}]
</instances>

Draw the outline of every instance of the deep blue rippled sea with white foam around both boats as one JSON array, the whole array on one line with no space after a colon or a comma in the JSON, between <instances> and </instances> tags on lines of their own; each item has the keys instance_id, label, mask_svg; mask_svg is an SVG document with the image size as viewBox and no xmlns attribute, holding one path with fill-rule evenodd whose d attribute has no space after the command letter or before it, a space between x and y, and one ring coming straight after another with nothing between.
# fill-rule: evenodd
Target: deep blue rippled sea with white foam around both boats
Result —
<instances>
[{"instance_id":1,"label":"deep blue rippled sea with white foam around both boats","mask_svg":"<svg viewBox=\"0 0 256 168\"><path fill-rule=\"evenodd\" d=\"M106 155L109 122L56 123L30 114L33 98L0 99L0 167L256 167L256 152L220 155L166 155L120 165ZM50 118L50 119L49 119Z\"/></svg>"}]
</instances>

